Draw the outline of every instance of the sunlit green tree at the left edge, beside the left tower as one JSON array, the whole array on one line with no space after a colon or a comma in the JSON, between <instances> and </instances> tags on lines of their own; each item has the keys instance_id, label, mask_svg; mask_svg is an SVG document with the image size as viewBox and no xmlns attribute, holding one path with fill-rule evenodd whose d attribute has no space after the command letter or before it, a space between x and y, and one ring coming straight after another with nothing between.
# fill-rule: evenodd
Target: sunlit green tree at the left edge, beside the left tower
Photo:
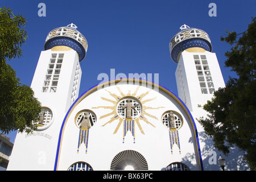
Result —
<instances>
[{"instance_id":1,"label":"sunlit green tree at the left edge, beside the left tower","mask_svg":"<svg viewBox=\"0 0 256 182\"><path fill-rule=\"evenodd\" d=\"M7 64L7 59L22 56L21 46L27 39L26 23L22 15L0 8L0 130L3 133L14 130L31 133L37 129L35 122L41 111L33 90L23 85Z\"/></svg>"}]
</instances>

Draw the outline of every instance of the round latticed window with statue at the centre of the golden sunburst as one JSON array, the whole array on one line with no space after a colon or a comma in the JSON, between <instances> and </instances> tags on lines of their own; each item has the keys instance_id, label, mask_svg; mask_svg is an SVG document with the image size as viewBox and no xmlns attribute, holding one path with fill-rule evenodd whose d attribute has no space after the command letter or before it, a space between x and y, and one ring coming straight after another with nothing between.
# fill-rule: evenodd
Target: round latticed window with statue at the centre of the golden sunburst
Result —
<instances>
[{"instance_id":1,"label":"round latticed window with statue at the centre of the golden sunburst","mask_svg":"<svg viewBox=\"0 0 256 182\"><path fill-rule=\"evenodd\" d=\"M135 98L123 98L117 103L117 114L122 119L137 119L142 112L141 103Z\"/></svg>"}]
</instances>

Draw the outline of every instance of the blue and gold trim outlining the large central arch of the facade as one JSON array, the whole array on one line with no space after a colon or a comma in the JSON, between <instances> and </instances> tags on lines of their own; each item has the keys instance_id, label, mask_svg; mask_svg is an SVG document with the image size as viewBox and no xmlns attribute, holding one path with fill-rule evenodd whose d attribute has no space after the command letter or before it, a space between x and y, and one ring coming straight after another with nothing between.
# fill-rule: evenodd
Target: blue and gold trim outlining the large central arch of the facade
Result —
<instances>
[{"instance_id":1,"label":"blue and gold trim outlining the large central arch of the facade","mask_svg":"<svg viewBox=\"0 0 256 182\"><path fill-rule=\"evenodd\" d=\"M129 80L129 79L135 79L135 80L139 80L139 81L146 81L146 82L151 82L152 84L155 84L153 81L148 81L148 80L144 80L142 78L122 78L122 80L126 79ZM117 79L118 80L118 79ZM113 79L113 80L109 80L109 81L105 81L103 82L101 85L105 85L107 82L110 83L112 81L116 81L116 79ZM121 81L120 81L121 82ZM165 90L167 90L168 92L170 92L174 97L177 98L177 100L179 100L180 104L184 107L184 110L187 111L187 113L189 114L189 117L191 118L192 120L192 123L193 123L193 127L194 127L194 130L195 130L195 136L196 136L196 142L197 142L197 150L198 150L198 157L199 157L199 161L200 161L200 168L201 168L201 171L204 170L204 167L203 167L203 159L201 157L201 149L200 149L200 143L199 143L199 137L198 137L198 133L197 133L197 128L196 128L196 123L192 117L192 114L191 112L189 111L188 107L184 104L184 102L176 96L176 94L174 92L172 92L171 90L169 90L168 88L166 88L165 86L162 86L160 84L156 84L158 85L160 88L163 88ZM56 151L56 158L55 158L55 164L54 164L54 171L57 170L57 164L59 162L59 154L60 154L60 144L61 144L61 138L62 138L62 134L63 134L63 129L64 129L64 125L65 125L65 122L67 120L67 117L69 115L69 113L71 112L73 106L76 105L77 101L80 100L80 98L82 96L84 96L86 93L89 93L92 89L94 88L97 88L97 86L99 86L99 84L96 84L94 86L92 86L91 88L85 90L84 93L81 94L81 96L79 96L75 102L73 102L73 104L71 105L71 107L69 107L69 110L67 111L67 114L65 115L65 118L63 119L63 123L61 125L61 128L60 128L60 134L59 134L59 139L58 139L58 143L57 143L57 151ZM163 90L164 91L164 90Z\"/></svg>"}]
</instances>

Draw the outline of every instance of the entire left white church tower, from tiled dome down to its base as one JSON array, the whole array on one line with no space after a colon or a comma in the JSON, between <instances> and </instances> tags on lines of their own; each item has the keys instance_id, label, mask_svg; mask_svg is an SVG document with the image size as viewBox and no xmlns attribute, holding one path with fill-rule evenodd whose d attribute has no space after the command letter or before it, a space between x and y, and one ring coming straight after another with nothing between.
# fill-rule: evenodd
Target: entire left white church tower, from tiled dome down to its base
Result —
<instances>
[{"instance_id":1,"label":"entire left white church tower, from tiled dome down to its base","mask_svg":"<svg viewBox=\"0 0 256 182\"><path fill-rule=\"evenodd\" d=\"M53 169L62 121L79 95L80 62L87 47L85 37L73 23L47 35L31 83L35 97L42 103L38 130L16 135L9 170L20 169L20 159L26 163L24 170Z\"/></svg>"}]
</instances>

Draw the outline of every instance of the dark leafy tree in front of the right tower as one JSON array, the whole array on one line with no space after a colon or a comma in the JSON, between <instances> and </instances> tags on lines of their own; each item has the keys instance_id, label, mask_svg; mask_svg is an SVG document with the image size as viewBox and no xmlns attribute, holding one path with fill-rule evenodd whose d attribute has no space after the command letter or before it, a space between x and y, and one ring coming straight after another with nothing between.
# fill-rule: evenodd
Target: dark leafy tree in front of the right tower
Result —
<instances>
[{"instance_id":1,"label":"dark leafy tree in front of the right tower","mask_svg":"<svg viewBox=\"0 0 256 182\"><path fill-rule=\"evenodd\" d=\"M205 134L213 138L215 147L229 154L229 148L237 146L245 152L252 170L256 169L256 17L245 32L226 31L221 36L232 48L225 53L228 58L225 67L236 72L237 77L229 77L225 88L214 93L211 101L203 106L208 118L198 121Z\"/></svg>"}]
</instances>

